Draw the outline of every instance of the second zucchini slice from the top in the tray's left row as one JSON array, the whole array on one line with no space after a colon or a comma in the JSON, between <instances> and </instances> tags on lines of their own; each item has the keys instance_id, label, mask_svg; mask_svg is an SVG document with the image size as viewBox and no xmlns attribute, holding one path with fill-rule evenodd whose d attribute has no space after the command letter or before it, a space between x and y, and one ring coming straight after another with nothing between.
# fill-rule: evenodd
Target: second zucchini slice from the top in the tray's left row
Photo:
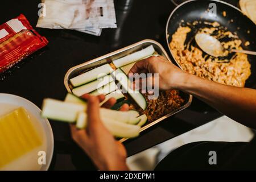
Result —
<instances>
[{"instance_id":1,"label":"second zucchini slice from the top in the tray's left row","mask_svg":"<svg viewBox=\"0 0 256 182\"><path fill-rule=\"evenodd\" d=\"M90 93L94 90L97 90L112 81L114 81L114 79L110 75L107 75L107 76L98 78L98 80L89 82L88 84L79 86L73 89L72 92L76 96L81 97L83 94Z\"/></svg>"}]
</instances>

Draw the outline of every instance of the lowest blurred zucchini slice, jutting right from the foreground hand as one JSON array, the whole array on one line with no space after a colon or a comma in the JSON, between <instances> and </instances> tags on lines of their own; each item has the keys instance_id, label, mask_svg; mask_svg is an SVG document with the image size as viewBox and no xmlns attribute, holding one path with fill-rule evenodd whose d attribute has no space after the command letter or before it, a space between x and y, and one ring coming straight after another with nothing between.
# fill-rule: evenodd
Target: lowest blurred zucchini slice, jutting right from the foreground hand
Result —
<instances>
[{"instance_id":1,"label":"lowest blurred zucchini slice, jutting right from the foreground hand","mask_svg":"<svg viewBox=\"0 0 256 182\"><path fill-rule=\"evenodd\" d=\"M129 125L127 123L114 121L113 119L109 118L105 118L103 123L110 133L112 133L112 135L120 138L138 137L139 130L141 129L141 127L137 125Z\"/></svg>"}]
</instances>

